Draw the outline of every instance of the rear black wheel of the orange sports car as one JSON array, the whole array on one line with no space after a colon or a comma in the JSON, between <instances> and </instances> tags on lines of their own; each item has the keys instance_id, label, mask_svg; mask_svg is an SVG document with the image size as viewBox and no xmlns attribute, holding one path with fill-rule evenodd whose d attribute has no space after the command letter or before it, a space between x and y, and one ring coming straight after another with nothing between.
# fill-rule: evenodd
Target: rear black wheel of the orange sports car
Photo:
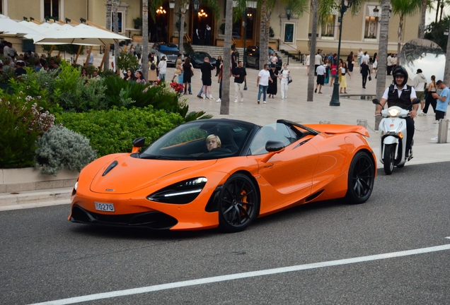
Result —
<instances>
[{"instance_id":1,"label":"rear black wheel of the orange sports car","mask_svg":"<svg viewBox=\"0 0 450 305\"><path fill-rule=\"evenodd\" d=\"M368 152L357 152L348 172L347 203L365 203L374 189L374 181L374 160Z\"/></svg>"}]
</instances>

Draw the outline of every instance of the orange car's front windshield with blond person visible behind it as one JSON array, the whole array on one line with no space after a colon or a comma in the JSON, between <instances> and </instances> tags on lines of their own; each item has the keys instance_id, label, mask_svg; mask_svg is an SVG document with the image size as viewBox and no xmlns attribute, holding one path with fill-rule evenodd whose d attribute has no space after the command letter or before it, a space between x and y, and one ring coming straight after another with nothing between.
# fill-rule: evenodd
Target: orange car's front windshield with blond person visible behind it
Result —
<instances>
[{"instance_id":1,"label":"orange car's front windshield with blond person visible behind it","mask_svg":"<svg viewBox=\"0 0 450 305\"><path fill-rule=\"evenodd\" d=\"M252 124L198 120L180 125L143 150L139 157L162 160L208 160L234 157L246 143Z\"/></svg>"}]
</instances>

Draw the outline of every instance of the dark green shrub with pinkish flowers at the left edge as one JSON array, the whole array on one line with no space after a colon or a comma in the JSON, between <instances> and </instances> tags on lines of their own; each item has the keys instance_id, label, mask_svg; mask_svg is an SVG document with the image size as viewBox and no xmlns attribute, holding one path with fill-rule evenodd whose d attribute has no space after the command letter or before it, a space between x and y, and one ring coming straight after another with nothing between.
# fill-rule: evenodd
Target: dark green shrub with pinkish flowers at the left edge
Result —
<instances>
[{"instance_id":1,"label":"dark green shrub with pinkish flowers at the left edge","mask_svg":"<svg viewBox=\"0 0 450 305\"><path fill-rule=\"evenodd\" d=\"M0 168L33 166L37 138L53 126L54 116L31 102L30 96L0 100Z\"/></svg>"}]
</instances>

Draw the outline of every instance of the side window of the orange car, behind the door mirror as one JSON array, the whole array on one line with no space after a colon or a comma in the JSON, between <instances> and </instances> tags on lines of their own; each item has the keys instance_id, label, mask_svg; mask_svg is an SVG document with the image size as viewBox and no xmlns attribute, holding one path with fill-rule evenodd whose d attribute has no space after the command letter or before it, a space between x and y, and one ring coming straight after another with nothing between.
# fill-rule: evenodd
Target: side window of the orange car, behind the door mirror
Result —
<instances>
[{"instance_id":1,"label":"side window of the orange car, behind the door mirror","mask_svg":"<svg viewBox=\"0 0 450 305\"><path fill-rule=\"evenodd\" d=\"M250 144L249 155L262 155L267 153L265 144L268 140L282 142L284 146L294 143L299 136L291 128L281 123L273 123L260 128Z\"/></svg>"}]
</instances>

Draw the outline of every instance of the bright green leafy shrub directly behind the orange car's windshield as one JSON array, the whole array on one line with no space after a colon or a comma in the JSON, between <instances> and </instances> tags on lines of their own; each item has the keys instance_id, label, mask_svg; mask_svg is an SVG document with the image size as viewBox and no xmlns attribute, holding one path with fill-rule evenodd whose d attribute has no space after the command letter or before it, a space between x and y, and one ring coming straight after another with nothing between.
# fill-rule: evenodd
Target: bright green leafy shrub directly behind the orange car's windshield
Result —
<instances>
[{"instance_id":1,"label":"bright green leafy shrub directly behind the orange car's windshield","mask_svg":"<svg viewBox=\"0 0 450 305\"><path fill-rule=\"evenodd\" d=\"M183 118L179 114L144 107L64 113L58 121L90 139L100 157L115 152L131 152L132 140L141 136L146 137L149 144L183 123Z\"/></svg>"}]
</instances>

